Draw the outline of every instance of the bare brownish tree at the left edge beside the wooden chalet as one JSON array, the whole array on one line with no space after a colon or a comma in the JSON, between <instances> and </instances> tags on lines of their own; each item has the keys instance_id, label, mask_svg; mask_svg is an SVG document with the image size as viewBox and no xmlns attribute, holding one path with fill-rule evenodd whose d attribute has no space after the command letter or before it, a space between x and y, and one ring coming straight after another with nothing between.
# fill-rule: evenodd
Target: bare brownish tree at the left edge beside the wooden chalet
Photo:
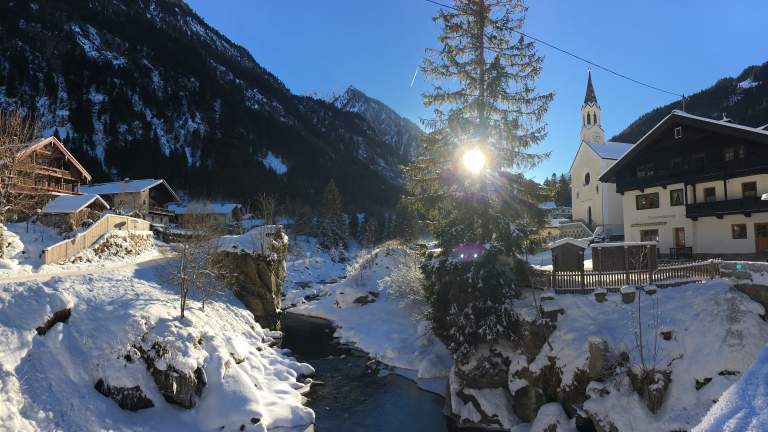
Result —
<instances>
[{"instance_id":1,"label":"bare brownish tree at the left edge beside the wooden chalet","mask_svg":"<svg viewBox=\"0 0 768 432\"><path fill-rule=\"evenodd\" d=\"M37 136L38 125L18 111L0 112L0 258L5 256L5 222L11 216L32 214L39 206L37 197L25 194L18 186L20 172L28 160L21 151Z\"/></svg>"}]
</instances>

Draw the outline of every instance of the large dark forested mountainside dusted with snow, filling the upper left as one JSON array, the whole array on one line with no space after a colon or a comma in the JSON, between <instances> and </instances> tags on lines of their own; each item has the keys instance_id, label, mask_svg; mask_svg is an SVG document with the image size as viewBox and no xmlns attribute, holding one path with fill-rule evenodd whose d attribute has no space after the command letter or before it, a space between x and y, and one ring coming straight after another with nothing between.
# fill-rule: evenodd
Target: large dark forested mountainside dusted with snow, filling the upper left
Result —
<instances>
[{"instance_id":1,"label":"large dark forested mountainside dusted with snow, filling the upper left","mask_svg":"<svg viewBox=\"0 0 768 432\"><path fill-rule=\"evenodd\" d=\"M14 108L96 180L311 202L334 178L358 208L394 203L402 184L386 127L291 93L178 0L1 2L0 110Z\"/></svg>"}]
</instances>

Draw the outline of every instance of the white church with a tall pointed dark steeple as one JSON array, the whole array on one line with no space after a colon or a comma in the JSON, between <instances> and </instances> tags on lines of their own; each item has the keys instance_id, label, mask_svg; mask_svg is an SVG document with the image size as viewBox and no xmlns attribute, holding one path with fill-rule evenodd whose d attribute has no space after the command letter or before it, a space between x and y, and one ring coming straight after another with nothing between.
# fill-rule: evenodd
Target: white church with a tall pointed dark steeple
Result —
<instances>
[{"instance_id":1,"label":"white church with a tall pointed dark steeple","mask_svg":"<svg viewBox=\"0 0 768 432\"><path fill-rule=\"evenodd\" d=\"M607 238L622 240L622 197L616 193L615 184L601 182L600 176L629 151L632 144L605 141L592 72L587 76L587 92L581 106L579 140L579 149L570 169L573 219L583 222L592 232L602 227Z\"/></svg>"}]
</instances>

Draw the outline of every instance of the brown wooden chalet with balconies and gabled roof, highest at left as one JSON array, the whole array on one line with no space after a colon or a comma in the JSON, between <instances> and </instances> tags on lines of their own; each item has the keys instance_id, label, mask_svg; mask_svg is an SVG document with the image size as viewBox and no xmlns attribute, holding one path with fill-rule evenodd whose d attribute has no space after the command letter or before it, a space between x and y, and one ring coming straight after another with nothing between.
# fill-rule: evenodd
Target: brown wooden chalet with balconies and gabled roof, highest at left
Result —
<instances>
[{"instance_id":1,"label":"brown wooden chalet with balconies and gabled roof, highest at left","mask_svg":"<svg viewBox=\"0 0 768 432\"><path fill-rule=\"evenodd\" d=\"M17 156L12 190L24 194L79 194L91 175L56 137L29 143Z\"/></svg>"}]
</instances>

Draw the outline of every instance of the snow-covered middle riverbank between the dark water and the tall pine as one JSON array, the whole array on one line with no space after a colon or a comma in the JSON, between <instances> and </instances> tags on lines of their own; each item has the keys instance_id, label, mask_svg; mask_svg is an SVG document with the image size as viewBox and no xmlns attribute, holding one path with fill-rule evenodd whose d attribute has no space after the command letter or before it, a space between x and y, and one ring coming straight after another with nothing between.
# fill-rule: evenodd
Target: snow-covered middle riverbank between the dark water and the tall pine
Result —
<instances>
[{"instance_id":1,"label":"snow-covered middle riverbank between the dark water and the tall pine","mask_svg":"<svg viewBox=\"0 0 768 432\"><path fill-rule=\"evenodd\" d=\"M290 280L327 280L343 274L343 267L323 258L312 241L304 246L310 249L302 249L301 258L289 262ZM423 319L425 305L417 298L416 265L413 252L387 243L361 252L346 278L337 283L286 284L286 303L298 303L290 309L293 313L332 320L342 342L354 344L402 375L417 380L444 378L453 363ZM303 300L307 295L319 297ZM423 384L434 389L435 383Z\"/></svg>"}]
</instances>

